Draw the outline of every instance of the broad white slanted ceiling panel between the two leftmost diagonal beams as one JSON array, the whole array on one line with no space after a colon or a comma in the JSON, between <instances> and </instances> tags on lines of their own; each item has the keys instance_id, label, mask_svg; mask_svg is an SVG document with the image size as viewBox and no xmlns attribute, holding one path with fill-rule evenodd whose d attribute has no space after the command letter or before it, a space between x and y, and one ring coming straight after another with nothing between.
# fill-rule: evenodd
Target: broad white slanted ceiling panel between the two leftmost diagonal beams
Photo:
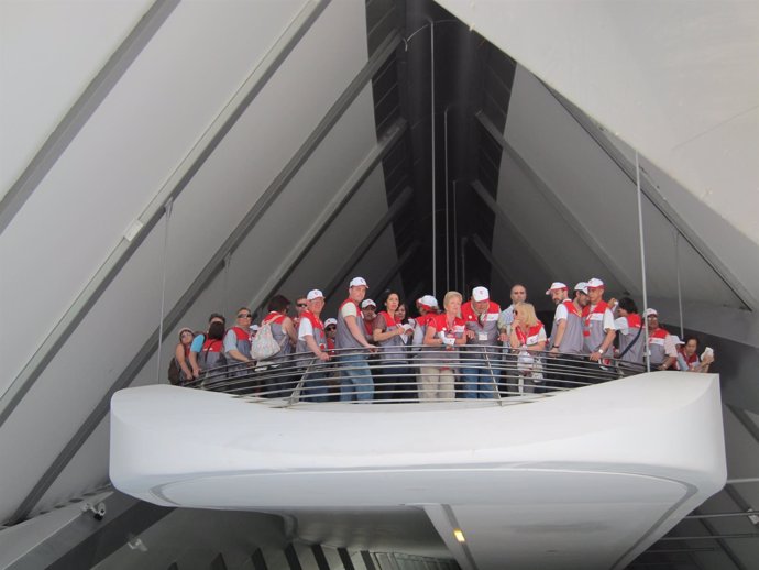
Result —
<instances>
[{"instance_id":1,"label":"broad white slanted ceiling panel between the two leftmost diagonal beams","mask_svg":"<svg viewBox=\"0 0 759 570\"><path fill-rule=\"evenodd\" d=\"M230 2L227 10L208 2L183 3L79 132L0 240L4 270L0 311L19 327L13 336L2 336L8 375L0 390L29 360L300 3ZM205 194L208 198L207 188ZM43 228L45 239L41 239ZM45 274L54 279L32 277L41 274L41 260Z\"/></svg>"}]
</instances>

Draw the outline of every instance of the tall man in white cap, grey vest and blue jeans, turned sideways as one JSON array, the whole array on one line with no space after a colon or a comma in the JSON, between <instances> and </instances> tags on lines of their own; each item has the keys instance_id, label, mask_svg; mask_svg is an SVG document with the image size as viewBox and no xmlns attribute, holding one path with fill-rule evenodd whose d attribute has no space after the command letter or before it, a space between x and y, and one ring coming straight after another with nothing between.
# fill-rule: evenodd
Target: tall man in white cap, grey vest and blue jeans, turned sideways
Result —
<instances>
[{"instance_id":1,"label":"tall man in white cap, grey vest and blue jeans, turned sideways","mask_svg":"<svg viewBox=\"0 0 759 570\"><path fill-rule=\"evenodd\" d=\"M366 340L363 325L360 322L361 308L369 285L363 277L353 277L348 287L348 298L338 310L338 330L336 346L343 352L338 357L341 363L340 401L370 402L374 397L374 381L366 363L366 349L374 347ZM348 350L352 349L352 350Z\"/></svg>"}]
</instances>

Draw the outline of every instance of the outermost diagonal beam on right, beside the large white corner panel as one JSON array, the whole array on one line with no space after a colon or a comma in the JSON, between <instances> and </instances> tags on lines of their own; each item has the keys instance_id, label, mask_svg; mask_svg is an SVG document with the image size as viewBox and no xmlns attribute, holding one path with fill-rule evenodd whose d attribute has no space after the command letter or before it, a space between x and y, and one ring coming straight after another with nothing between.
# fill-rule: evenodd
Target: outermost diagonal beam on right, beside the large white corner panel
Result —
<instances>
[{"instance_id":1,"label":"outermost diagonal beam on right, beside the large white corner panel","mask_svg":"<svg viewBox=\"0 0 759 570\"><path fill-rule=\"evenodd\" d=\"M548 91L561 105L564 110L575 120L575 122L588 134L591 139L612 158L619 169L627 176L632 184L636 184L636 169L627 157L609 141L595 125L593 120L587 117L580 108L546 86ZM664 198L648 176L641 176L640 190L648 201L659 210L672 227L682 235L685 241L695 250L704 262L712 267L712 271L727 285L733 294L740 299L746 308L759 309L759 300L744 286L738 277L725 265L719 255L714 253L701 237L693 231L688 222L678 213L678 210Z\"/></svg>"}]
</instances>

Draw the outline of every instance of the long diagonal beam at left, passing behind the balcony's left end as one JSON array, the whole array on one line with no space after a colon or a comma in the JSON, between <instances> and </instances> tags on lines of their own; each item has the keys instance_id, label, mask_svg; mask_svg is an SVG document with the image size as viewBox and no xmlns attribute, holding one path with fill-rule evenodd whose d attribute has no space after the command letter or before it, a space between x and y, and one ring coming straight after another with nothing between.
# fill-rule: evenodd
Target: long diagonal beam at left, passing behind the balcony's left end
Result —
<instances>
[{"instance_id":1,"label":"long diagonal beam at left, passing behind the balcony's left end","mask_svg":"<svg viewBox=\"0 0 759 570\"><path fill-rule=\"evenodd\" d=\"M350 105L359 96L364 86L371 80L372 76L383 65L387 57L389 57L389 55L395 51L399 43L400 36L397 31L394 31L383 42L382 46L377 48L372 58L361 69L361 72L356 75L353 81L351 81L351 84L345 88L345 90L338 98L334 105L329 109L321 122L319 122L311 135L296 152L293 158L290 158L290 161L287 163L283 172L275 178L275 180L270 185L266 191L264 191L263 196L258 199L258 201L256 201L256 204L245 215L240 224L238 224L238 227L232 231L230 237L224 241L222 246L219 248L217 253L206 264L200 274L190 284L189 288L179 298L176 305L168 311L166 318L164 319L164 339L170 333L174 327L177 326L179 319L185 315L187 309L193 305L193 303L195 303L198 296L206 289L206 287L208 287L209 283L223 267L224 257L240 245L240 243L245 238L245 235L248 235L250 230L266 213L268 208L276 200L277 196L282 194L287 183L289 183L289 180L293 179L295 174L306 163L306 161L319 145L321 140L324 136L327 136L327 133L338 122L338 120L340 119L340 117L342 117L345 110L348 110ZM92 302L92 304L94 303L95 302ZM144 365L147 363L147 361L151 359L151 357L155 353L155 351L158 348L158 335L160 328L156 328L155 331L153 331L153 333L147 338L142 348L138 351L138 353L134 355L129 365L119 375L116 382L113 382L111 387L106 392L103 397L92 409L92 412L84 421L81 427L72 437L69 442L62 449L61 453L58 453L58 456L55 458L51 467L45 471L40 481L37 481L34 487L26 495L26 497L24 497L24 500L19 504L19 507L16 508L15 513L10 519L12 524L23 520L29 515L34 505L44 496L47 489L50 489L50 486L63 472L68 462L74 458L79 448L81 448L81 446L85 443L85 441L87 441L92 431L95 431L98 425L106 417L108 410L110 409L110 401L113 394L119 390L129 386L134 380L134 376L136 376L136 374L144 368ZM31 387L31 384L26 387L26 390L29 390L29 387ZM10 412L7 413L7 408L2 412L6 413L6 417L2 419L6 419Z\"/></svg>"}]
</instances>

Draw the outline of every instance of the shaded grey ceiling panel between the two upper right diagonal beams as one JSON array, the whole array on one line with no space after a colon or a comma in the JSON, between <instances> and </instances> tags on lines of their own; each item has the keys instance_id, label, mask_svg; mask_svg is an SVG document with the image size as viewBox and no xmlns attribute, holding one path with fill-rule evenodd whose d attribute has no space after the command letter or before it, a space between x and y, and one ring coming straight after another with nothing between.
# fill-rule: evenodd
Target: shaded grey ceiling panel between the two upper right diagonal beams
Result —
<instances>
[{"instance_id":1,"label":"shaded grey ceiling panel between the two upper right diagonal beams","mask_svg":"<svg viewBox=\"0 0 759 570\"><path fill-rule=\"evenodd\" d=\"M570 216L591 234L604 252L605 265L614 273L623 272L615 275L622 281L620 285L628 291L641 291L635 185L544 86L522 67L517 68L515 76L505 138L564 204ZM508 160L502 162L506 164ZM536 216L535 211L531 216ZM532 220L532 228L550 227L559 242L566 243L569 239L576 243L574 232L562 233L557 231L558 227L546 226L539 220ZM648 293L676 297L674 229L647 199L644 231ZM607 260L613 260L617 270ZM598 267L587 276L602 270ZM688 283L682 287L686 300L740 306L735 294L684 242L680 244L680 276L682 283Z\"/></svg>"}]
</instances>

